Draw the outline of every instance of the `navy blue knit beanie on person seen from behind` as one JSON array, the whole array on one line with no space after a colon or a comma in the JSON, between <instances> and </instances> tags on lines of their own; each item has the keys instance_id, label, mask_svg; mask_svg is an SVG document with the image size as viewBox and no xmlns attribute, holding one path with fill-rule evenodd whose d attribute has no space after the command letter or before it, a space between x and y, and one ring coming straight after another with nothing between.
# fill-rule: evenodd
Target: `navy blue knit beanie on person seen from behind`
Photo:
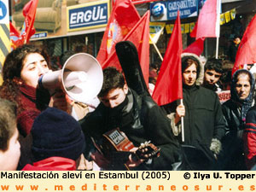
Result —
<instances>
[{"instance_id":1,"label":"navy blue knit beanie on person seen from behind","mask_svg":"<svg viewBox=\"0 0 256 192\"><path fill-rule=\"evenodd\" d=\"M59 156L77 160L84 151L84 133L75 119L57 108L47 108L32 125L32 154L36 161Z\"/></svg>"}]
</instances>

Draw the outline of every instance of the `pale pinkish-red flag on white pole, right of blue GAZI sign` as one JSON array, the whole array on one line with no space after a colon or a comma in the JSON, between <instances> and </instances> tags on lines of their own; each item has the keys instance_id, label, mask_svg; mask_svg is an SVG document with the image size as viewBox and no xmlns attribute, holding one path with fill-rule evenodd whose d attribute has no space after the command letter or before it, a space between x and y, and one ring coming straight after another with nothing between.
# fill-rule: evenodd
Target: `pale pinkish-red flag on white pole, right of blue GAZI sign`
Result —
<instances>
[{"instance_id":1,"label":"pale pinkish-red flag on white pole, right of blue GAZI sign","mask_svg":"<svg viewBox=\"0 0 256 192\"><path fill-rule=\"evenodd\" d=\"M207 0L190 36L195 39L219 37L219 13L220 0Z\"/></svg>"}]
</instances>

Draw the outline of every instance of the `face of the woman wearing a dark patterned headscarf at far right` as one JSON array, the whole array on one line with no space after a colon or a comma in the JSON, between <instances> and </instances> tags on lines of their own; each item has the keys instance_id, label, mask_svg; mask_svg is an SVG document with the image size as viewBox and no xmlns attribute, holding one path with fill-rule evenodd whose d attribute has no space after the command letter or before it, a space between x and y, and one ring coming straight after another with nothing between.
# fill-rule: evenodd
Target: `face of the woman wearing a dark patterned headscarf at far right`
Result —
<instances>
[{"instance_id":1,"label":"face of the woman wearing a dark patterned headscarf at far right","mask_svg":"<svg viewBox=\"0 0 256 192\"><path fill-rule=\"evenodd\" d=\"M236 93L241 100L244 100L249 96L251 90L251 84L247 74L241 74L237 77Z\"/></svg>"}]
</instances>

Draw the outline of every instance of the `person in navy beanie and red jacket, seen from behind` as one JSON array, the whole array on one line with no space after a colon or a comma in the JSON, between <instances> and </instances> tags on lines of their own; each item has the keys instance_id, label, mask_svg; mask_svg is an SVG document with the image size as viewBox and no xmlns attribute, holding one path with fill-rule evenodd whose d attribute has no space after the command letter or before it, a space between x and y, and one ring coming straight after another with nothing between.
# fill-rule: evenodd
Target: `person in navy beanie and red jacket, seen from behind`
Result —
<instances>
[{"instance_id":1,"label":"person in navy beanie and red jacket, seen from behind","mask_svg":"<svg viewBox=\"0 0 256 192\"><path fill-rule=\"evenodd\" d=\"M33 165L23 171L74 171L84 151L84 134L68 113L47 108L32 125Z\"/></svg>"}]
</instances>

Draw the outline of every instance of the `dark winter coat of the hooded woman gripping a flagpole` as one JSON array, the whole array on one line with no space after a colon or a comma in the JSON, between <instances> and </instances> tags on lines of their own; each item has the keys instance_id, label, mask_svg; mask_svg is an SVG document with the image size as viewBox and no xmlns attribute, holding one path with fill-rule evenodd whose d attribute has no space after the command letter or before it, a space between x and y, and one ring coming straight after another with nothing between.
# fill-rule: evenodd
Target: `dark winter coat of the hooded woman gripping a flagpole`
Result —
<instances>
[{"instance_id":1,"label":"dark winter coat of the hooded woman gripping a flagpole","mask_svg":"<svg viewBox=\"0 0 256 192\"><path fill-rule=\"evenodd\" d=\"M183 84L183 105L184 142L181 141L180 122L175 125L174 118L171 118L173 132L178 136L180 143L201 149L208 160L215 163L214 154L218 155L220 140L224 137L224 119L217 94L198 85ZM177 102L172 102L164 108L174 117Z\"/></svg>"}]
</instances>

